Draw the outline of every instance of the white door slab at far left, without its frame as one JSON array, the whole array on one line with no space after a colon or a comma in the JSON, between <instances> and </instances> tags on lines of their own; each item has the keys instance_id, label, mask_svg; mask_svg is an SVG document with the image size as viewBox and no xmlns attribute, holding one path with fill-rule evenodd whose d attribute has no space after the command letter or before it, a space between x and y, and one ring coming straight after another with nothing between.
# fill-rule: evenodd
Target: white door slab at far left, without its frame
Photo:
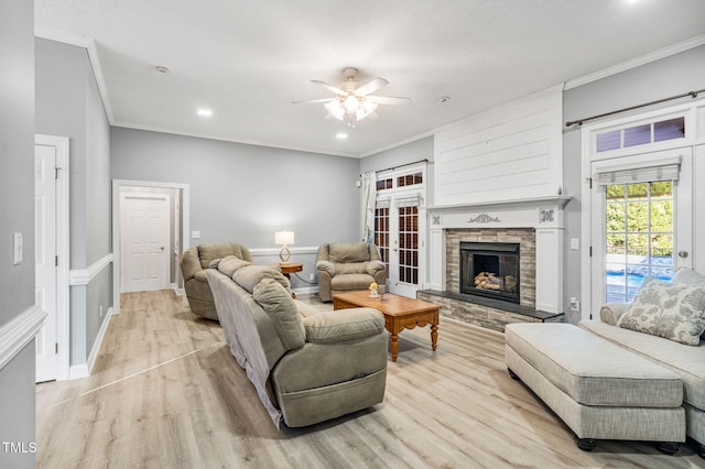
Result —
<instances>
[{"instance_id":1,"label":"white door slab at far left, without its frame","mask_svg":"<svg viewBox=\"0 0 705 469\"><path fill-rule=\"evenodd\" d=\"M55 380L56 356L56 148L34 148L35 302L46 312L36 335L36 382Z\"/></svg>"}]
</instances>

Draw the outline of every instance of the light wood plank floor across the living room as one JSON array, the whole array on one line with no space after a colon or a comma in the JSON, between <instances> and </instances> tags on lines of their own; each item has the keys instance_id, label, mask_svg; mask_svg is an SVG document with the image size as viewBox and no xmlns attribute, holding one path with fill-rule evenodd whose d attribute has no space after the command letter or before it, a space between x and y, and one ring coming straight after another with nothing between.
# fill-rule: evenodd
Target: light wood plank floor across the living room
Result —
<instances>
[{"instance_id":1,"label":"light wood plank floor across the living room","mask_svg":"<svg viewBox=\"0 0 705 469\"><path fill-rule=\"evenodd\" d=\"M36 386L37 467L705 467L690 445L577 449L509 378L501 334L444 318L435 352L427 327L400 335L382 404L278 432L217 323L170 291L124 294L121 310L89 378Z\"/></svg>"}]
</instances>

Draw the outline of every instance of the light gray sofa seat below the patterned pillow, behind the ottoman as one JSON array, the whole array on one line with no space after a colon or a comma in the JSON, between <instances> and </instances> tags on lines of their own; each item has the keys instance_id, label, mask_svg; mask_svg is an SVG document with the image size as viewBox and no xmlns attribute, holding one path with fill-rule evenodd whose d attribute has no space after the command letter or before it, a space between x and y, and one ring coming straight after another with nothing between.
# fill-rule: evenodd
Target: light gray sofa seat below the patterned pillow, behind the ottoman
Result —
<instances>
[{"instance_id":1,"label":"light gray sofa seat below the patterned pillow, behind the ottoman","mask_svg":"<svg viewBox=\"0 0 705 469\"><path fill-rule=\"evenodd\" d=\"M705 345L688 347L599 320L582 320L578 325L673 371L683 382L683 401L694 407L705 408Z\"/></svg>"}]
</instances>

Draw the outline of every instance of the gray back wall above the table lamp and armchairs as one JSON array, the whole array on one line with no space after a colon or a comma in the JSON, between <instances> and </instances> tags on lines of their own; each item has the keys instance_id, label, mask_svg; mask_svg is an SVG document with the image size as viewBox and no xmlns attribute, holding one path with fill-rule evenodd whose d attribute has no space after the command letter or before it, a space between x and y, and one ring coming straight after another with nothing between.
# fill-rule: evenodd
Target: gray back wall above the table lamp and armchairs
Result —
<instances>
[{"instance_id":1,"label":"gray back wall above the table lamp and armchairs","mask_svg":"<svg viewBox=\"0 0 705 469\"><path fill-rule=\"evenodd\" d=\"M191 246L276 248L283 229L293 248L358 237L358 160L123 128L110 141L115 179L189 185Z\"/></svg>"}]
</instances>

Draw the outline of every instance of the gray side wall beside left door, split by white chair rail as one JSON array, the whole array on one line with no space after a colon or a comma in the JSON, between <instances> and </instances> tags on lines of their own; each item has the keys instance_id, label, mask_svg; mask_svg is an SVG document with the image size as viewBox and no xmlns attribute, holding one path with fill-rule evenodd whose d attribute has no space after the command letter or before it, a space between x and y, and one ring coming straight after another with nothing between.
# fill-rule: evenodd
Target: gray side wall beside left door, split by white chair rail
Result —
<instances>
[{"instance_id":1,"label":"gray side wall beside left door, split by white chair rail","mask_svg":"<svg viewBox=\"0 0 705 469\"><path fill-rule=\"evenodd\" d=\"M70 269L87 269L111 252L110 126L87 51L43 39L35 47L36 132L69 138ZM110 270L70 287L72 366L86 363L112 306Z\"/></svg>"}]
</instances>

